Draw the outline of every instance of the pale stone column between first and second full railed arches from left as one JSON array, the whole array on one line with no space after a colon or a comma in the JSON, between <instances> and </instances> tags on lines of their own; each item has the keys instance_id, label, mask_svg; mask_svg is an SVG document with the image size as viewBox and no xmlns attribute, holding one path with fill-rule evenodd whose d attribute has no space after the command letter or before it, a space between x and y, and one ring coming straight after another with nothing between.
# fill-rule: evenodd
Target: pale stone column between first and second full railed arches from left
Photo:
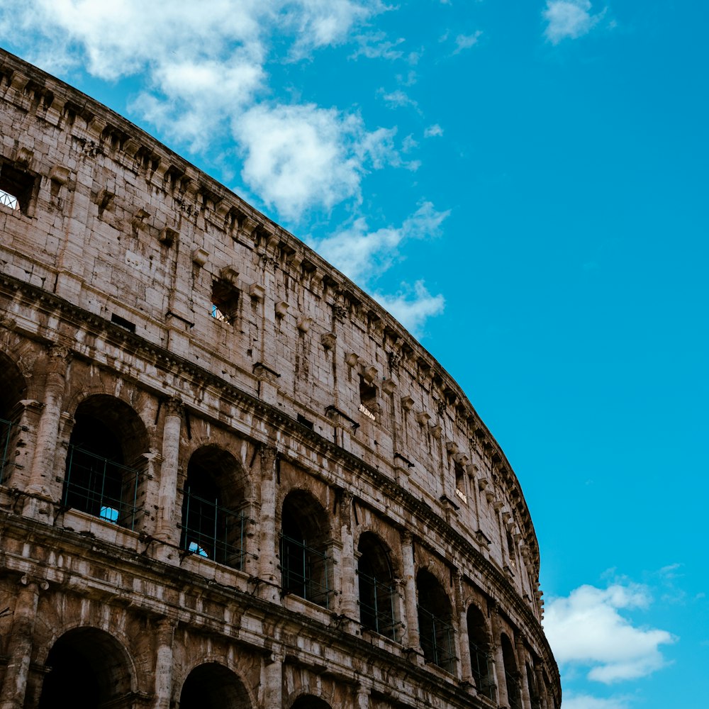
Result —
<instances>
[{"instance_id":1,"label":"pale stone column between first and second full railed arches from left","mask_svg":"<svg viewBox=\"0 0 709 709\"><path fill-rule=\"evenodd\" d=\"M162 465L160 487L157 492L157 525L155 537L169 545L179 545L177 529L177 473L179 438L184 408L179 398L169 398L165 405L165 422L162 429Z\"/></svg>"}]
</instances>

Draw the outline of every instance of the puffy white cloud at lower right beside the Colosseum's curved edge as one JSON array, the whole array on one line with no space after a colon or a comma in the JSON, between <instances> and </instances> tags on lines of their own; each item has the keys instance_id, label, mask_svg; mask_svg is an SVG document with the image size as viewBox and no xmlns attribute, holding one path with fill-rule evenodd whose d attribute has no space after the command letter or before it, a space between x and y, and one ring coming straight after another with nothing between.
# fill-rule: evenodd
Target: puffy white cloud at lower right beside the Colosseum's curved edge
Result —
<instances>
[{"instance_id":1,"label":"puffy white cloud at lower right beside the Colosseum's curved edge","mask_svg":"<svg viewBox=\"0 0 709 709\"><path fill-rule=\"evenodd\" d=\"M590 667L588 679L613 683L646 676L664 666L659 645L676 641L666 630L632 625L620 610L647 608L647 588L613 584L579 586L555 598L545 613L545 630L557 660Z\"/></svg>"}]
</instances>

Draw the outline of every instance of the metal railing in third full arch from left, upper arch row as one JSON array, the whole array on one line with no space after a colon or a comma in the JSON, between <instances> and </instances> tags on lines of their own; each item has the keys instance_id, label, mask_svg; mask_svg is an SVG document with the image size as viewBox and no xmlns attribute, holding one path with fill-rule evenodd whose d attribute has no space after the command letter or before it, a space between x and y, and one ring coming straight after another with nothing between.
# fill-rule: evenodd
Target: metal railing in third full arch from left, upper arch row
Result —
<instances>
[{"instance_id":1,"label":"metal railing in third full arch from left, upper arch row","mask_svg":"<svg viewBox=\"0 0 709 709\"><path fill-rule=\"evenodd\" d=\"M281 593L330 607L328 555L281 534Z\"/></svg>"}]
</instances>

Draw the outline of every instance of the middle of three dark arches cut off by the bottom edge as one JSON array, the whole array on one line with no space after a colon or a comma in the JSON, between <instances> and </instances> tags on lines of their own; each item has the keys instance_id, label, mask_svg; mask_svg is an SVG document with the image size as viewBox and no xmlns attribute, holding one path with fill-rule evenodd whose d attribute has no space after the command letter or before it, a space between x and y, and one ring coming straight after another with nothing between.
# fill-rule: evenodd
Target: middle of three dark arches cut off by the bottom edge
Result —
<instances>
[{"instance_id":1,"label":"middle of three dark arches cut off by the bottom edge","mask_svg":"<svg viewBox=\"0 0 709 709\"><path fill-rule=\"evenodd\" d=\"M251 709L249 694L230 669L208 662L195 667L182 685L179 709Z\"/></svg>"}]
</instances>

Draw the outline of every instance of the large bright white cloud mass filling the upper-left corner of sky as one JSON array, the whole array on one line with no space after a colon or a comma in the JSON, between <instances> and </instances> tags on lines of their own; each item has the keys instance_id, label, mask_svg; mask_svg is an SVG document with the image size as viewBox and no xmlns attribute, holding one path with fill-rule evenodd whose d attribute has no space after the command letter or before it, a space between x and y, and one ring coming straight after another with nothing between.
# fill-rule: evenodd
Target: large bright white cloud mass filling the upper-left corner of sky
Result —
<instances>
[{"instance_id":1,"label":"large bright white cloud mass filling the upper-left corner of sky","mask_svg":"<svg viewBox=\"0 0 709 709\"><path fill-rule=\"evenodd\" d=\"M50 71L142 75L132 111L194 152L236 140L247 185L298 219L357 198L367 169L389 164L391 132L368 132L361 118L335 109L260 104L272 45L296 60L342 43L381 11L379 0L6 0L0 38Z\"/></svg>"}]
</instances>

